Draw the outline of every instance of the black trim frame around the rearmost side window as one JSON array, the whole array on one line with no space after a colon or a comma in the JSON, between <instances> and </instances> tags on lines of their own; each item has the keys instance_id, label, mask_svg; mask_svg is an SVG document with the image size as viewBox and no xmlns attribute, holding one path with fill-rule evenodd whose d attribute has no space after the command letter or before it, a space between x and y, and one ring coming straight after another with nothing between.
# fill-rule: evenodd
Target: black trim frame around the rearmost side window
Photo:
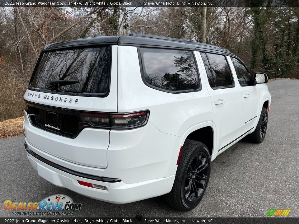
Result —
<instances>
[{"instance_id":1,"label":"black trim frame around the rearmost side window","mask_svg":"<svg viewBox=\"0 0 299 224\"><path fill-rule=\"evenodd\" d=\"M159 91L163 91L163 92L167 92L167 93L174 93L174 94L197 92L197 91L201 91L202 90L202 83L201 83L201 80L200 80L200 75L199 75L197 60L196 60L196 57L195 57L195 54L194 54L193 50L191 50L191 49L177 49L177 48L164 48L164 47L159 47L159 46L154 46L154 47L148 47L148 46L143 47L143 46L141 46L141 48L190 51L192 53L192 55L193 55L193 58L194 58L194 62L195 62L195 66L196 66L196 72L197 72L197 76L198 76L198 84L199 84L199 86L198 86L197 89L178 90L178 91L166 90L166 89L159 88L157 86L150 85L145 80L144 70L143 70L143 62L142 62L142 57L141 57L141 53L140 53L140 46L137 46L137 53L138 53L138 60L139 60L139 67L140 67L140 74L141 74L142 81L144 82L144 84L146 86L148 86L148 87L150 87L152 89L155 89L155 90L159 90Z\"/></svg>"}]
</instances>

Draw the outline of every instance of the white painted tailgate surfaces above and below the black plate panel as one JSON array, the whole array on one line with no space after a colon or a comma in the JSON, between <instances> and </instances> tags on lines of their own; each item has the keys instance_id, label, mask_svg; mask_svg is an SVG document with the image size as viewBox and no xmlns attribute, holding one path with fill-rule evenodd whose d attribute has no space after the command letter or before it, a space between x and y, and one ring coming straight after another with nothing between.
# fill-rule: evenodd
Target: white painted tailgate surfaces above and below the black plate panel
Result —
<instances>
[{"instance_id":1,"label":"white painted tailgate surfaces above and below the black plate panel","mask_svg":"<svg viewBox=\"0 0 299 224\"><path fill-rule=\"evenodd\" d=\"M117 46L112 47L110 82L107 97L69 96L27 89L24 100L72 110L117 112ZM58 158L84 166L107 167L110 138L107 129L84 128L71 139L32 126L25 113L24 132L32 145Z\"/></svg>"}]
</instances>

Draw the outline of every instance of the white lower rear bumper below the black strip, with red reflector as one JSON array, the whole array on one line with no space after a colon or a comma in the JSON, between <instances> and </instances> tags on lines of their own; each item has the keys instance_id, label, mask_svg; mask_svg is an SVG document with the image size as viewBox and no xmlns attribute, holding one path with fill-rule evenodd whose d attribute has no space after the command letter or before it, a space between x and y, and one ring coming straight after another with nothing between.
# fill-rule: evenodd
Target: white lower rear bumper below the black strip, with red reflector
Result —
<instances>
[{"instance_id":1,"label":"white lower rear bumper below the black strip, with red reflector","mask_svg":"<svg viewBox=\"0 0 299 224\"><path fill-rule=\"evenodd\" d=\"M147 180L134 184L126 184L123 181L104 182L93 180L73 175L66 172L66 170L60 170L50 166L31 155L30 149L28 150L27 157L31 165L45 180L59 187L68 188L87 197L109 203L124 204L167 194L170 192L175 178L175 175L172 175L166 178ZM108 190L86 187L78 184L78 180L102 185L107 187Z\"/></svg>"}]
</instances>

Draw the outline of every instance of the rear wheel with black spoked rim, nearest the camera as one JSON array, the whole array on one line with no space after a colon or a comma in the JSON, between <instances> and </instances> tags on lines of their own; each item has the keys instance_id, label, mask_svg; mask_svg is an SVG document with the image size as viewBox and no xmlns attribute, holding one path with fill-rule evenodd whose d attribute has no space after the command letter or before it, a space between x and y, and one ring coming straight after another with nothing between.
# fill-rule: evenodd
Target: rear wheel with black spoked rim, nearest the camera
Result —
<instances>
[{"instance_id":1,"label":"rear wheel with black spoked rim, nearest the camera","mask_svg":"<svg viewBox=\"0 0 299 224\"><path fill-rule=\"evenodd\" d=\"M195 208L206 191L210 170L211 157L206 145L187 139L183 145L173 187L170 193L164 195L165 201L181 211Z\"/></svg>"}]
</instances>

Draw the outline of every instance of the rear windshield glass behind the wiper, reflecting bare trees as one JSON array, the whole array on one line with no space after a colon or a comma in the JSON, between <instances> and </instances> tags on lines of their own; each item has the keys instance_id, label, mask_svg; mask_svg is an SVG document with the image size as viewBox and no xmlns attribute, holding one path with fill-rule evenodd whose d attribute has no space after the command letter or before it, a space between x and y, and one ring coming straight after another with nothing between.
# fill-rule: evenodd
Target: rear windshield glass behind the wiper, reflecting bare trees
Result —
<instances>
[{"instance_id":1,"label":"rear windshield glass behind the wiper, reflecting bare trees","mask_svg":"<svg viewBox=\"0 0 299 224\"><path fill-rule=\"evenodd\" d=\"M49 90L56 80L78 83L60 86L60 92L107 96L111 70L111 47L68 49L42 54L30 87Z\"/></svg>"}]
</instances>

